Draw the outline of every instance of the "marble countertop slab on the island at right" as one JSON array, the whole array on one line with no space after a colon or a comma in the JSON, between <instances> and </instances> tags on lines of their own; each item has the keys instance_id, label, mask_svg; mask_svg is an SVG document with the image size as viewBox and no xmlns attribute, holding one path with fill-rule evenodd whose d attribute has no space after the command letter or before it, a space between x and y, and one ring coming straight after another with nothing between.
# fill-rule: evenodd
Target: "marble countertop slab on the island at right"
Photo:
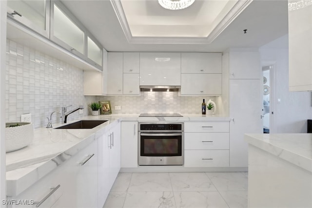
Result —
<instances>
[{"instance_id":1,"label":"marble countertop slab on the island at right","mask_svg":"<svg viewBox=\"0 0 312 208\"><path fill-rule=\"evenodd\" d=\"M245 141L312 172L312 133L245 134Z\"/></svg>"}]
</instances>

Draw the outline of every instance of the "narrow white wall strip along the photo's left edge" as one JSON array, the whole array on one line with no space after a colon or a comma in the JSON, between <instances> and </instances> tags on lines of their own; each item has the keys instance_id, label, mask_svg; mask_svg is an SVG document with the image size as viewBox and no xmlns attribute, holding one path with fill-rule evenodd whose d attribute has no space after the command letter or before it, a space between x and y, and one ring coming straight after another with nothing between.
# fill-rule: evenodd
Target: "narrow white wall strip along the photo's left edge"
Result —
<instances>
[{"instance_id":1,"label":"narrow white wall strip along the photo's left edge","mask_svg":"<svg viewBox=\"0 0 312 208\"><path fill-rule=\"evenodd\" d=\"M5 68L5 44L6 44L6 0L0 0L0 69ZM0 200L6 198L6 179L5 179L5 70L0 70ZM0 207L5 205L0 203Z\"/></svg>"}]
</instances>

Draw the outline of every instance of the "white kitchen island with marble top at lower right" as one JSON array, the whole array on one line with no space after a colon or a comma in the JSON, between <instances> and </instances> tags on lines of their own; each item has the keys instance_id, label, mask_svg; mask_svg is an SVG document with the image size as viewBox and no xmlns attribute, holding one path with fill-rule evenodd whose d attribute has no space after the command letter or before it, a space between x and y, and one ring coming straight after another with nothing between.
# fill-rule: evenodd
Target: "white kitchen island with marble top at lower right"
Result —
<instances>
[{"instance_id":1,"label":"white kitchen island with marble top at lower right","mask_svg":"<svg viewBox=\"0 0 312 208\"><path fill-rule=\"evenodd\" d=\"M248 207L312 207L312 134L245 134Z\"/></svg>"}]
</instances>

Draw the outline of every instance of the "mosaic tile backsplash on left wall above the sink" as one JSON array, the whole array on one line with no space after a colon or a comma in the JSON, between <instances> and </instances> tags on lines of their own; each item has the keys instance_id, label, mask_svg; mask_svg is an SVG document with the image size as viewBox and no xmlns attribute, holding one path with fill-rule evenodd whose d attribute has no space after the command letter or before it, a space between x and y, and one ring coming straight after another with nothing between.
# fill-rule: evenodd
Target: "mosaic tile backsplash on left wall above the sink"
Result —
<instances>
[{"instance_id":1,"label":"mosaic tile backsplash on left wall above the sink","mask_svg":"<svg viewBox=\"0 0 312 208\"><path fill-rule=\"evenodd\" d=\"M35 128L45 127L47 116L61 111L62 106L84 105L83 114L78 111L68 120L88 114L88 103L94 96L83 96L83 71L34 49L7 39L5 78L6 122L20 121L20 115L32 114ZM52 123L60 123L54 113Z\"/></svg>"}]
</instances>

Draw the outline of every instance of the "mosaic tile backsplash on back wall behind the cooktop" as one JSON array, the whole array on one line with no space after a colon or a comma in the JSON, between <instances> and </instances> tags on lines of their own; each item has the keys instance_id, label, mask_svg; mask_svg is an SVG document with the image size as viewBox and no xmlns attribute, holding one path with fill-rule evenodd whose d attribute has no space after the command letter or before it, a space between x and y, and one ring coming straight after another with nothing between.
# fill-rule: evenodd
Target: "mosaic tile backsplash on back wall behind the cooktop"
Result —
<instances>
[{"instance_id":1,"label":"mosaic tile backsplash on back wall behind the cooktop","mask_svg":"<svg viewBox=\"0 0 312 208\"><path fill-rule=\"evenodd\" d=\"M201 103L214 96L178 96L178 92L141 92L140 96L96 96L111 102L112 113L201 113ZM216 103L217 104L217 103ZM120 105L121 110L114 110Z\"/></svg>"}]
</instances>

